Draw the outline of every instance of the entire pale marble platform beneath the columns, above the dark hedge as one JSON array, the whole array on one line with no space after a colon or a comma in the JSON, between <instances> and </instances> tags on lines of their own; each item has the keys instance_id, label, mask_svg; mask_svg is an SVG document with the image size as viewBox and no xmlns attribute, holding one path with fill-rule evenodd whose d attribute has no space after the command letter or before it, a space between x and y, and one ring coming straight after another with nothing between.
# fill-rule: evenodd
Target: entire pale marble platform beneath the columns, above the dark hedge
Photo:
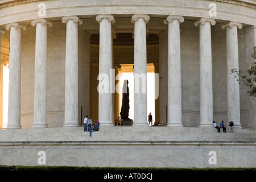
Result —
<instances>
[{"instance_id":1,"label":"entire pale marble platform beneath the columns, above the dark hedge","mask_svg":"<svg viewBox=\"0 0 256 182\"><path fill-rule=\"evenodd\" d=\"M0 165L256 167L256 130L102 126L89 137L84 127L9 129L0 130L0 156Z\"/></svg>"}]
</instances>

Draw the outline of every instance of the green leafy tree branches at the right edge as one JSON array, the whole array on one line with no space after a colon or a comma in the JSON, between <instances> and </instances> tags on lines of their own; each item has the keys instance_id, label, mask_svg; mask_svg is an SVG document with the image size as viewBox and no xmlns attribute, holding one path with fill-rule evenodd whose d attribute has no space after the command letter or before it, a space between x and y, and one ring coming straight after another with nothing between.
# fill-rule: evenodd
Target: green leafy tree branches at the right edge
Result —
<instances>
[{"instance_id":1,"label":"green leafy tree branches at the right edge","mask_svg":"<svg viewBox=\"0 0 256 182\"><path fill-rule=\"evenodd\" d=\"M253 48L253 53L251 54L251 57L254 59L253 66L246 71L246 73L242 73L241 70L237 70L236 68L231 69L231 73L235 75L238 82L243 81L243 84L249 88L247 93L250 94L250 96L256 97L256 47Z\"/></svg>"}]
</instances>

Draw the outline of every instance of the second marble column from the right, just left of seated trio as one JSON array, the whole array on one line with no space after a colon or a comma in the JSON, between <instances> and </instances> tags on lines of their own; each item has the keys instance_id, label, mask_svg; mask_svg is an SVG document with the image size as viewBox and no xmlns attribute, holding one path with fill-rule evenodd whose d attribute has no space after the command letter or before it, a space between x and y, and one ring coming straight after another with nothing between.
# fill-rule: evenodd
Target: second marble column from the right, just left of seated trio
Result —
<instances>
[{"instance_id":1,"label":"second marble column from the right, just left of seated trio","mask_svg":"<svg viewBox=\"0 0 256 182\"><path fill-rule=\"evenodd\" d=\"M199 127L213 126L213 88L212 88L212 43L210 24L214 19L201 18L195 22L200 26L200 123Z\"/></svg>"}]
</instances>

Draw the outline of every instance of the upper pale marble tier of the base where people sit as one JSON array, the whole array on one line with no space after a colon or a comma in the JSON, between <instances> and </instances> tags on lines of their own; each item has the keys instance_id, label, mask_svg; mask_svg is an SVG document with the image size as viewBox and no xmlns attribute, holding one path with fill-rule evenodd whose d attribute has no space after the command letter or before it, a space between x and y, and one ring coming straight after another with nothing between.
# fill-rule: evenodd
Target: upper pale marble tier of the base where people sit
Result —
<instances>
[{"instance_id":1,"label":"upper pale marble tier of the base where people sit","mask_svg":"<svg viewBox=\"0 0 256 182\"><path fill-rule=\"evenodd\" d=\"M100 131L84 132L84 127L0 130L0 142L255 142L256 130L234 129L234 133L217 133L203 127L100 126Z\"/></svg>"}]
</instances>

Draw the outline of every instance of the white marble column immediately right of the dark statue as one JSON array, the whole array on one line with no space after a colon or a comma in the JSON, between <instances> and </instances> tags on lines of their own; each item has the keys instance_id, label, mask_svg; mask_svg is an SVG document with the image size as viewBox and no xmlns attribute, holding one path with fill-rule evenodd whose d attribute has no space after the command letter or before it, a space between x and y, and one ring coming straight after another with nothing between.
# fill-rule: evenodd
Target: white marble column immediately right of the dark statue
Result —
<instances>
[{"instance_id":1,"label":"white marble column immediately right of the dark statue","mask_svg":"<svg viewBox=\"0 0 256 182\"><path fill-rule=\"evenodd\" d=\"M147 30L148 15L133 15L134 23L134 122L147 126Z\"/></svg>"}]
</instances>

